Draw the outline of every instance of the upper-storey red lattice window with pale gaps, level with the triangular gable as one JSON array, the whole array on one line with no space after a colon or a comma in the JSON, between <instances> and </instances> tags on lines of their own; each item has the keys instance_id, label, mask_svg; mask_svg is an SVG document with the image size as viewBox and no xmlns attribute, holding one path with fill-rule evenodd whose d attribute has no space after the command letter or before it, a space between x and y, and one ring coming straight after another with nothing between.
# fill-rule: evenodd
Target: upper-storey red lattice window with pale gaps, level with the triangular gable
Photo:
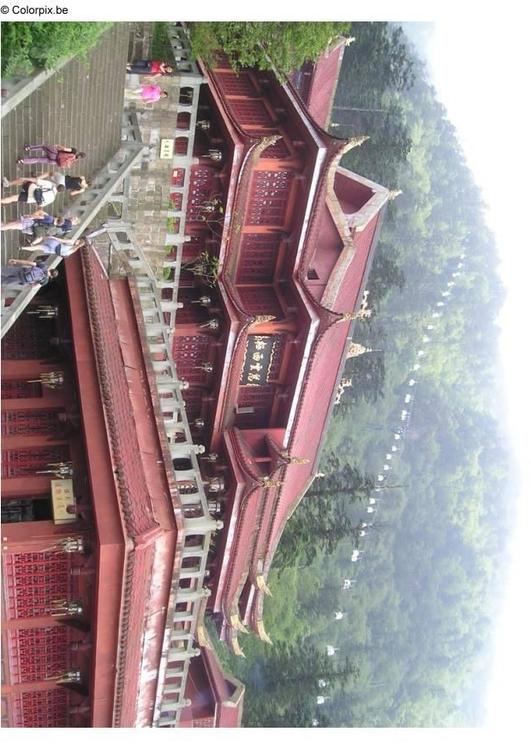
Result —
<instances>
[{"instance_id":1,"label":"upper-storey red lattice window with pale gaps, level with the triangular gable","mask_svg":"<svg viewBox=\"0 0 531 750\"><path fill-rule=\"evenodd\" d=\"M283 227L292 180L285 169L255 172L246 223Z\"/></svg>"}]
</instances>

